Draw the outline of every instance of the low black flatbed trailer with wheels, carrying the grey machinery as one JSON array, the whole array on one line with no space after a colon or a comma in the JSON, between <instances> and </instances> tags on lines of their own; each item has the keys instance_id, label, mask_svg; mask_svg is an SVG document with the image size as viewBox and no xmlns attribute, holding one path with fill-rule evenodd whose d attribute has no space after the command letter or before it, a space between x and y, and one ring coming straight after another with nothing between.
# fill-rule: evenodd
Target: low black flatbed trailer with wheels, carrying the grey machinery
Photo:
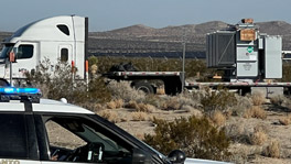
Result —
<instances>
[{"instance_id":1,"label":"low black flatbed trailer with wheels, carrying the grey machinery","mask_svg":"<svg viewBox=\"0 0 291 164\"><path fill-rule=\"evenodd\" d=\"M166 95L176 95L182 92L182 72L110 72L104 74L105 77L115 80L129 80L131 86L144 92L154 94L157 86L154 80L162 80ZM266 97L277 96L281 94L290 95L291 83L265 83L265 81L185 81L184 89L193 90L203 87L217 89L218 87L235 89L240 95L246 95L255 90L266 94Z\"/></svg>"}]
</instances>

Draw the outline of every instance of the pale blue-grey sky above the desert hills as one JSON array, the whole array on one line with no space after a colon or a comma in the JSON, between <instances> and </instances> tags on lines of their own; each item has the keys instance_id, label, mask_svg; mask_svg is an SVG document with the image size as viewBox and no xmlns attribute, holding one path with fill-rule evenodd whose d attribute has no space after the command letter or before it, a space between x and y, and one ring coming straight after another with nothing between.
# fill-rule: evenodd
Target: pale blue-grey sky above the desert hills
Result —
<instances>
[{"instance_id":1,"label":"pale blue-grey sky above the desert hills","mask_svg":"<svg viewBox=\"0 0 291 164\"><path fill-rule=\"evenodd\" d=\"M237 23L291 22L291 0L1 0L0 31L17 29L54 15L89 18L89 31L108 31L133 24L152 28L208 21Z\"/></svg>"}]
</instances>

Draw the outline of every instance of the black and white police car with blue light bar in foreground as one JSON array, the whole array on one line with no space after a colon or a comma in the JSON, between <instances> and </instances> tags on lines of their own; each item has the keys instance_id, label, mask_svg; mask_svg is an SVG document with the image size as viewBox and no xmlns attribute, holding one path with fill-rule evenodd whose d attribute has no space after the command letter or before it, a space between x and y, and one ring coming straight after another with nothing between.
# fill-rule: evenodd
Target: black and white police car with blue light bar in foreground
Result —
<instances>
[{"instance_id":1,"label":"black and white police car with blue light bar in foreground","mask_svg":"<svg viewBox=\"0 0 291 164\"><path fill-rule=\"evenodd\" d=\"M89 110L41 99L37 88L0 87L0 164L48 163L220 162L164 156Z\"/></svg>"}]
</instances>

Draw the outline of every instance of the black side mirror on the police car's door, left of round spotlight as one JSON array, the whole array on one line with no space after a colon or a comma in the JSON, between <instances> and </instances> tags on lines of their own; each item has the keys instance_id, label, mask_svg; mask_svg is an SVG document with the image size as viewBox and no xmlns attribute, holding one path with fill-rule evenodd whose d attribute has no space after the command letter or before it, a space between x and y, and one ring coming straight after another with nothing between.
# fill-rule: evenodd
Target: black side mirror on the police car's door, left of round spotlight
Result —
<instances>
[{"instance_id":1,"label":"black side mirror on the police car's door, left of round spotlight","mask_svg":"<svg viewBox=\"0 0 291 164\"><path fill-rule=\"evenodd\" d=\"M140 149L133 149L132 164L151 164L151 156Z\"/></svg>"}]
</instances>

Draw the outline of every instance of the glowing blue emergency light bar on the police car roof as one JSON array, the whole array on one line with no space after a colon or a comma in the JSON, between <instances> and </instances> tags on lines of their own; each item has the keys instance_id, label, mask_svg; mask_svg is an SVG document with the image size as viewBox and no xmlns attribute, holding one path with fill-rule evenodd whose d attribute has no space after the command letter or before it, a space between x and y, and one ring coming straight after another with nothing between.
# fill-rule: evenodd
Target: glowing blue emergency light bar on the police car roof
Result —
<instances>
[{"instance_id":1,"label":"glowing blue emergency light bar on the police car roof","mask_svg":"<svg viewBox=\"0 0 291 164\"><path fill-rule=\"evenodd\" d=\"M13 88L13 87L4 87L0 88L0 94L4 95L34 95L34 94L41 94L41 90L39 88Z\"/></svg>"}]
</instances>

